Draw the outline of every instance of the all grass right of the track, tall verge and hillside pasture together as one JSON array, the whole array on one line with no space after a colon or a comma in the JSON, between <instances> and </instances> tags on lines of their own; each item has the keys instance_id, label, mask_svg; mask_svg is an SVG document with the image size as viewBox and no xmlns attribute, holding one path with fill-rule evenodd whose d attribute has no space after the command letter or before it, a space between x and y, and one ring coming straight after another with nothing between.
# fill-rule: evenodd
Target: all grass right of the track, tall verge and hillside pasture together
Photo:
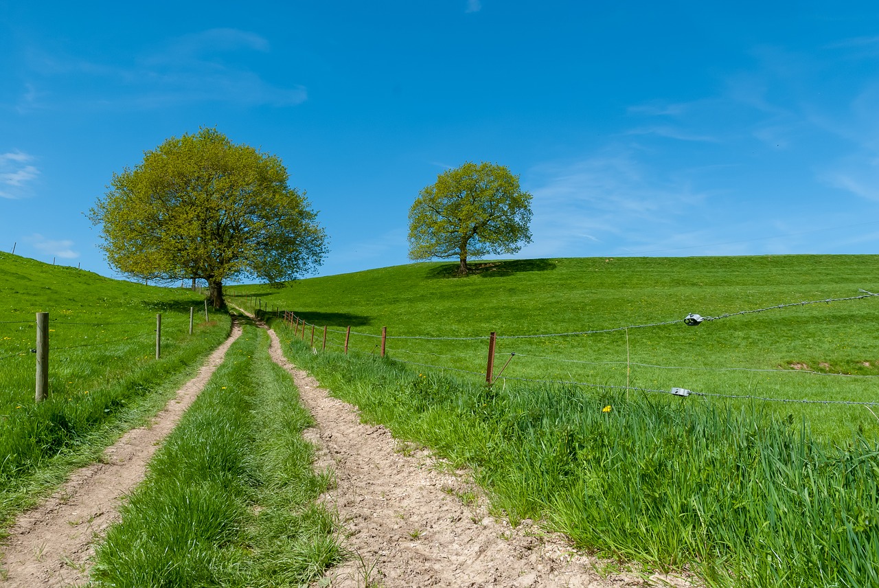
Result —
<instances>
[{"instance_id":1,"label":"all grass right of the track, tall verge and hillside pasture together","mask_svg":"<svg viewBox=\"0 0 879 588\"><path fill-rule=\"evenodd\" d=\"M875 406L664 390L875 403L873 297L681 319L875 292L876 261L554 259L467 278L418 264L231 293L365 418L471 468L512 522L542 519L580 548L712 586L854 588L879 585ZM318 350L329 325L327 352L310 328L296 341L276 308L316 324ZM669 324L638 326L652 323ZM497 369L510 363L488 388L491 330Z\"/></svg>"}]
</instances>

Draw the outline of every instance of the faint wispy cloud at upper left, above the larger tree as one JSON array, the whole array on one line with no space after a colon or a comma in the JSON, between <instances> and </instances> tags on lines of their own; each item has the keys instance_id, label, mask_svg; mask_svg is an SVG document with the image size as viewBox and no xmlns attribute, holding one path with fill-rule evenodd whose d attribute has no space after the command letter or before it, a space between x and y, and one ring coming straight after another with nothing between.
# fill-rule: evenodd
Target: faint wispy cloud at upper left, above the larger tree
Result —
<instances>
[{"instance_id":1,"label":"faint wispy cloud at upper left, above the larger tree","mask_svg":"<svg viewBox=\"0 0 879 588\"><path fill-rule=\"evenodd\" d=\"M270 51L264 37L231 28L166 40L121 63L32 50L27 62L39 79L26 87L19 110L49 107L58 99L81 107L146 109L199 102L301 104L308 98L303 86L271 83L248 66L254 54Z\"/></svg>"}]
</instances>

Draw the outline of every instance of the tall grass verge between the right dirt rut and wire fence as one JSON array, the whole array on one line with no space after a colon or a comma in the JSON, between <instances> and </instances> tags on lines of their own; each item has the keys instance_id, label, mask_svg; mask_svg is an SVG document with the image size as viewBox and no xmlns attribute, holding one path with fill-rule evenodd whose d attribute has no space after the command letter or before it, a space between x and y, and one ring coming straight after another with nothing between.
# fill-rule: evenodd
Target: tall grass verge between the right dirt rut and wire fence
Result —
<instances>
[{"instance_id":1,"label":"tall grass verge between the right dirt rut and wire fence","mask_svg":"<svg viewBox=\"0 0 879 588\"><path fill-rule=\"evenodd\" d=\"M879 585L875 440L827 444L759 403L486 388L297 342L285 351L369 420L473 468L513 522L544 519L581 548L711 585Z\"/></svg>"}]
</instances>

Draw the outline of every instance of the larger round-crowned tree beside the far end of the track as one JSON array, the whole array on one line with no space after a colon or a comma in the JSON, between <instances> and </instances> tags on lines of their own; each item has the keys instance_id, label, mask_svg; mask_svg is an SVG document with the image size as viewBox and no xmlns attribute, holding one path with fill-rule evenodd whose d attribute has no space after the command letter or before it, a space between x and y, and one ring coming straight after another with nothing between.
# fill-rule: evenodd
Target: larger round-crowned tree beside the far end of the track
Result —
<instances>
[{"instance_id":1,"label":"larger round-crowned tree beside the far end of the track","mask_svg":"<svg viewBox=\"0 0 879 588\"><path fill-rule=\"evenodd\" d=\"M114 173L89 218L113 268L137 279L205 279L221 308L224 282L294 279L323 262L326 235L287 181L277 156L203 128Z\"/></svg>"}]
</instances>

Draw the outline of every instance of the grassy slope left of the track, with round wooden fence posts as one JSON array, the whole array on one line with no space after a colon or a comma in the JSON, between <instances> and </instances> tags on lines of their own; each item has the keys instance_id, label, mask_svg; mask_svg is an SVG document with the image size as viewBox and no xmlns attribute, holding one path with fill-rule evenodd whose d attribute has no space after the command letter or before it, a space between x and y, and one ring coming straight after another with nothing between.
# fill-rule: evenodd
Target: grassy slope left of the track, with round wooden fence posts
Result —
<instances>
[{"instance_id":1,"label":"grassy slope left of the track, with round wooden fence posts","mask_svg":"<svg viewBox=\"0 0 879 588\"><path fill-rule=\"evenodd\" d=\"M0 520L154 414L229 334L188 290L0 254ZM34 403L36 312L49 313L49 393ZM163 316L155 359L156 314Z\"/></svg>"}]
</instances>

